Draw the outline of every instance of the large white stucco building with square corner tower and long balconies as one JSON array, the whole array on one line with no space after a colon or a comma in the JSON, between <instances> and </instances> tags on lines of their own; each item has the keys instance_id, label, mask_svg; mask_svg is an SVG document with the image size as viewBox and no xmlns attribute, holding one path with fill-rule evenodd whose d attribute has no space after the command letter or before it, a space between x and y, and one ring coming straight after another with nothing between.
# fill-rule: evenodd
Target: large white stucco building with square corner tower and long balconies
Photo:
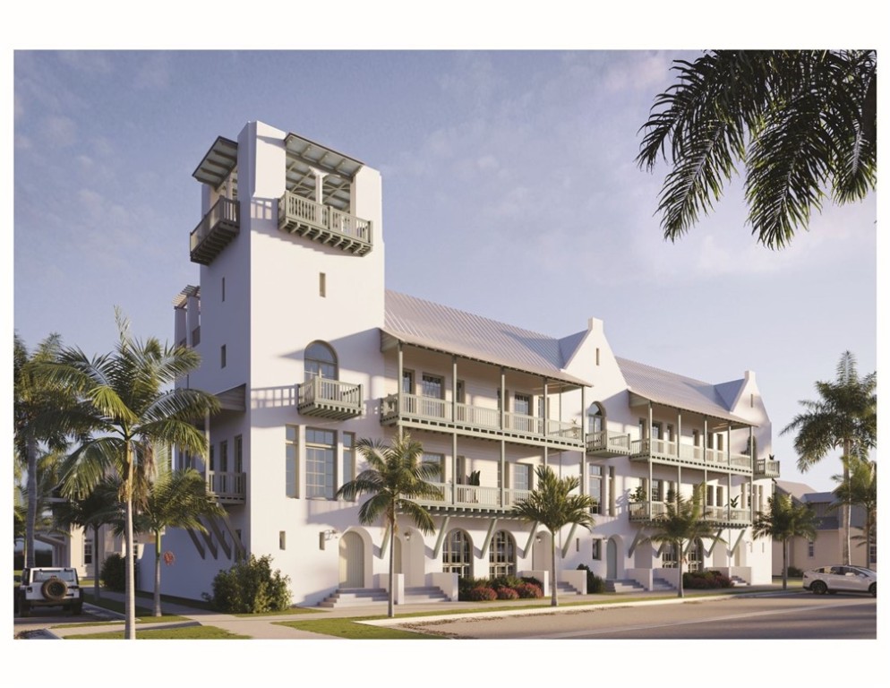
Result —
<instances>
[{"instance_id":1,"label":"large white stucco building with square corner tower and long balconies","mask_svg":"<svg viewBox=\"0 0 890 688\"><path fill-rule=\"evenodd\" d=\"M223 410L206 460L176 461L204 472L228 515L206 536L168 530L164 592L200 598L236 557L272 555L295 603L314 604L384 587L389 546L398 598L423 585L453 597L464 575L533 572L549 586L550 534L509 516L542 464L597 500L593 532L557 533L561 581L583 588L584 563L646 589L675 584L676 554L645 527L670 490L698 483L725 543L697 543L689 568L771 581L751 523L778 463L763 458L771 426L753 373L702 383L615 357L593 318L552 338L386 290L380 173L299 135L249 123L193 176L201 281L175 298L175 340L203 361L183 384ZM405 520L390 543L334 495L363 468L356 442L399 430L441 468L441 497L425 502L434 534Z\"/></svg>"}]
</instances>

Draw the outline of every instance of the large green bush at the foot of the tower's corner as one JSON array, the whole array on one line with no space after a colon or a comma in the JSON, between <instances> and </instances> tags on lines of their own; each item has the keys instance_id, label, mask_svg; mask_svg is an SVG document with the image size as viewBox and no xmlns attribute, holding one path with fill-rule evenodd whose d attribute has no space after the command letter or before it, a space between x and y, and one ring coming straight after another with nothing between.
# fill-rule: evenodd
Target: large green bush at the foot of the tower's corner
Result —
<instances>
[{"instance_id":1,"label":"large green bush at the foot of the tower's corner","mask_svg":"<svg viewBox=\"0 0 890 688\"><path fill-rule=\"evenodd\" d=\"M290 606L290 578L272 572L270 555L236 562L228 571L220 571L213 579L213 595L203 598L218 611L228 614L261 614L279 612Z\"/></svg>"}]
</instances>

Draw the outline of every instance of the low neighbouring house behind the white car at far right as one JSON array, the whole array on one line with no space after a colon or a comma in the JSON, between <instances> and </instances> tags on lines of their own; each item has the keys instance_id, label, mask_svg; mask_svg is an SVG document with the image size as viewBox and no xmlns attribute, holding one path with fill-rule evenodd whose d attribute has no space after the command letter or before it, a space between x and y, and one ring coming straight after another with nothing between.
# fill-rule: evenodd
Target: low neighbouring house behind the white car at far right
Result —
<instances>
[{"instance_id":1,"label":"low neighbouring house behind the white car at far right","mask_svg":"<svg viewBox=\"0 0 890 688\"><path fill-rule=\"evenodd\" d=\"M802 483L786 480L775 481L777 495L791 495L796 503L807 504L817 515L817 537L792 538L788 543L788 565L807 571L819 566L843 563L843 528L841 528L841 507L834 506L834 494L816 492ZM877 543L872 545L871 564L866 563L864 538L865 511L860 506L850 510L850 563L855 566L870 566L877 569ZM874 534L873 534L874 537ZM773 575L782 575L782 543L773 543Z\"/></svg>"}]
</instances>

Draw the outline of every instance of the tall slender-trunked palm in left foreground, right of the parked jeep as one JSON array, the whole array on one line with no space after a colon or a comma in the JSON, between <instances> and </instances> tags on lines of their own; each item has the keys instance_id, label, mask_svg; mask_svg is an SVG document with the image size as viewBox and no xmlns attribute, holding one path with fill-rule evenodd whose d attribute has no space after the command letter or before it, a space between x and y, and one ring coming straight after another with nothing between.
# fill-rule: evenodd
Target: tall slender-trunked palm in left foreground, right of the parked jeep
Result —
<instances>
[{"instance_id":1,"label":"tall slender-trunked palm in left foreground, right of the parked jeep","mask_svg":"<svg viewBox=\"0 0 890 688\"><path fill-rule=\"evenodd\" d=\"M179 446L184 452L203 454L207 442L193 425L215 412L218 401L207 392L187 388L166 389L193 371L201 358L193 349L169 348L155 339L134 340L129 322L116 310L119 341L114 352L88 358L78 348L64 348L58 359L42 366L53 383L76 391L81 403L60 414L64 430L84 424L94 434L79 443L69 457L71 469L63 489L85 495L99 480L116 475L123 483L125 587L124 637L135 640L133 589L133 497L141 463L151 465L154 443Z\"/></svg>"}]
</instances>

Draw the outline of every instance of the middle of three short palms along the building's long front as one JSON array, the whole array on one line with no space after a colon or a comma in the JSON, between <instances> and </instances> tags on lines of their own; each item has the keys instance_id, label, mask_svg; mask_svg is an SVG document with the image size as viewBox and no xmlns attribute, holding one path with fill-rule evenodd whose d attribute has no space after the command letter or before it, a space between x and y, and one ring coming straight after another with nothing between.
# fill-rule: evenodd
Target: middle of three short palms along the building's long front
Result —
<instances>
[{"instance_id":1,"label":"middle of three short palms along the building's long front","mask_svg":"<svg viewBox=\"0 0 890 688\"><path fill-rule=\"evenodd\" d=\"M578 476L556 477L549 466L535 469L537 486L525 499L513 505L511 514L519 519L540 523L550 531L551 606L557 606L556 596L556 534L563 526L574 524L586 529L594 527L590 510L594 500L590 495L571 495L581 484Z\"/></svg>"}]
</instances>

